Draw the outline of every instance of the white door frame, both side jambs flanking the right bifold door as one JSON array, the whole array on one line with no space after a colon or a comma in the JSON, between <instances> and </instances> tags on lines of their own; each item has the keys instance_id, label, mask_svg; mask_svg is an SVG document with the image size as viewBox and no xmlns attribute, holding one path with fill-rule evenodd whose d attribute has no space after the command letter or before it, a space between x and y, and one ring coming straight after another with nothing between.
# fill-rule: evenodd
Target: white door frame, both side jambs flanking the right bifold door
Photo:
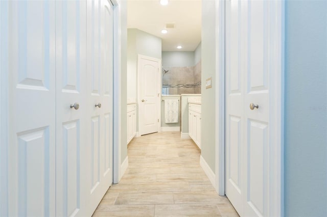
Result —
<instances>
[{"instance_id":1,"label":"white door frame, both side jambs flanking the right bifold door","mask_svg":"<svg viewBox=\"0 0 327 217\"><path fill-rule=\"evenodd\" d=\"M216 190L219 195L225 195L225 1L216 0L216 79L217 94L215 99L216 106L216 135L215 135L215 159L216 159ZM270 215L284 216L284 84L285 84L285 0L271 1L270 12L277 14L274 17L275 23L271 25L271 32L276 45L272 50L274 56L271 60L277 62L274 68L270 69L274 73L270 73L269 86L280 87L274 88L270 92L269 104L279 105L276 110L269 113L270 119L270 144L277 144L270 147L270 173L273 180L269 180L270 185ZM273 20L273 19L272 19ZM272 157L273 156L273 157Z\"/></svg>"}]
</instances>

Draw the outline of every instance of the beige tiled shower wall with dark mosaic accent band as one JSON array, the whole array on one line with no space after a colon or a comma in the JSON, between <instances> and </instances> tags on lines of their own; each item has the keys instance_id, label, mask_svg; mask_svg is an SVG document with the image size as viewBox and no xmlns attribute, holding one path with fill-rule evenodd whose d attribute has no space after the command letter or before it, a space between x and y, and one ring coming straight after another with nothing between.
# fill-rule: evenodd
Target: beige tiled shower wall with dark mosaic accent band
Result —
<instances>
[{"instance_id":1,"label":"beige tiled shower wall with dark mosaic accent band","mask_svg":"<svg viewBox=\"0 0 327 217\"><path fill-rule=\"evenodd\" d=\"M162 94L200 94L201 61L192 67L170 67L162 72Z\"/></svg>"}]
</instances>

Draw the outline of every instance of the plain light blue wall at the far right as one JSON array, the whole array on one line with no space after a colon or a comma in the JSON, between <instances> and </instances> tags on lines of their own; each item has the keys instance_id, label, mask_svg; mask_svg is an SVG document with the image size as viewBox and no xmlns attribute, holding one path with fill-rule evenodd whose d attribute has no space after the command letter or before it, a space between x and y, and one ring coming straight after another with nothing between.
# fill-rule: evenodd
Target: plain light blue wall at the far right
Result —
<instances>
[{"instance_id":1,"label":"plain light blue wall at the far right","mask_svg":"<svg viewBox=\"0 0 327 217\"><path fill-rule=\"evenodd\" d=\"M285 216L327 216L326 11L286 1Z\"/></svg>"}]
</instances>

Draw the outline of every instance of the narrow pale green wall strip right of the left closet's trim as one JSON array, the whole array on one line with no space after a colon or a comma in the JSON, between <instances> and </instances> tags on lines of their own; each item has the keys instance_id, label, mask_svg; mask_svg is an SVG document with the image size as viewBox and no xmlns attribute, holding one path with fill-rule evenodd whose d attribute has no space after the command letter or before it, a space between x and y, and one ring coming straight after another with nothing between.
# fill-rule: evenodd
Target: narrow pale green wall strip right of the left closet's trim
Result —
<instances>
[{"instance_id":1,"label":"narrow pale green wall strip right of the left closet's trim","mask_svg":"<svg viewBox=\"0 0 327 217\"><path fill-rule=\"evenodd\" d=\"M127 156L127 2L121 1L121 159L122 162Z\"/></svg>"}]
</instances>

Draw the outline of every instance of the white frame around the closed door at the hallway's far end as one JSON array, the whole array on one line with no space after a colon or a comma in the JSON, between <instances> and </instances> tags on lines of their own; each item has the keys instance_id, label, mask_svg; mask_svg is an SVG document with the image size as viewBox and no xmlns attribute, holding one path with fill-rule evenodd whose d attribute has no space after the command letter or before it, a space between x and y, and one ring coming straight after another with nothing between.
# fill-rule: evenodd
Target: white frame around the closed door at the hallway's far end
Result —
<instances>
[{"instance_id":1,"label":"white frame around the closed door at the hallway's far end","mask_svg":"<svg viewBox=\"0 0 327 217\"><path fill-rule=\"evenodd\" d=\"M157 91L158 91L158 94L160 95L160 97L157 98L157 101L156 101L156 106L157 106L157 111L158 111L158 126L157 126L157 131L160 132L160 129L161 129L161 106L160 106L160 99L161 99L161 60L160 59L157 59L157 58L153 58L153 57L148 57L148 56L145 56L145 55L140 55L138 54L137 55L137 104L138 104L138 110L137 110L137 125L138 125L138 134L141 135L141 121L140 120L140 113L139 113L139 105L140 105L140 101L141 101L141 88L140 88L140 85L139 85L139 81L140 81L140 71L141 71L141 68L139 66L139 60L141 59L147 59L147 60L150 60L150 61L155 61L155 62L158 62L158 71L159 71L159 76L157 77Z\"/></svg>"}]
</instances>

